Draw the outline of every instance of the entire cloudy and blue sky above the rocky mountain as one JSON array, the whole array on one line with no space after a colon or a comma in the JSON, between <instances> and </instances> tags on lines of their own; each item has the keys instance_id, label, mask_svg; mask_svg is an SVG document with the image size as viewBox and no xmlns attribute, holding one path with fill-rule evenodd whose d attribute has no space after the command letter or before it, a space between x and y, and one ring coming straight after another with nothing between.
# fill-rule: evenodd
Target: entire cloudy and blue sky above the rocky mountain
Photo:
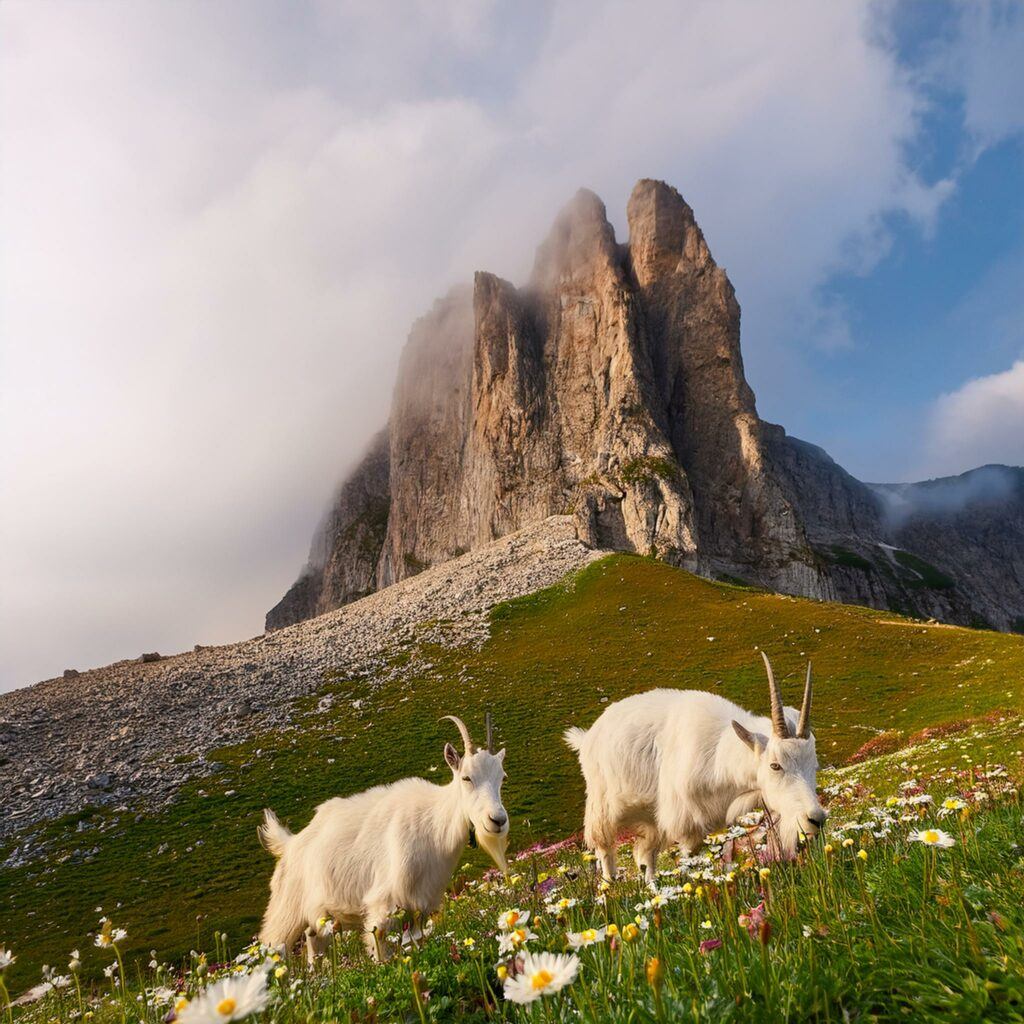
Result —
<instances>
[{"instance_id":1,"label":"entire cloudy and blue sky above the rocky mountain","mask_svg":"<svg viewBox=\"0 0 1024 1024\"><path fill-rule=\"evenodd\" d=\"M763 417L1024 463L1024 5L0 4L0 689L262 632L413 319L693 207Z\"/></svg>"}]
</instances>

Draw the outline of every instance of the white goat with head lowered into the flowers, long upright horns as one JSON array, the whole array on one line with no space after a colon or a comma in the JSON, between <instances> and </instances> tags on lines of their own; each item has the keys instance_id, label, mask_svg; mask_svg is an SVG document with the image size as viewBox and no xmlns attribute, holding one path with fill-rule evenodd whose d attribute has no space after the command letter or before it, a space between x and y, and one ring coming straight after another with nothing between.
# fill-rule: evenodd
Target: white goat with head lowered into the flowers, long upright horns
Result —
<instances>
[{"instance_id":1,"label":"white goat with head lowered into the flowers, long upright horns","mask_svg":"<svg viewBox=\"0 0 1024 1024\"><path fill-rule=\"evenodd\" d=\"M782 707L768 656L771 716L760 718L715 693L650 690L610 705L589 731L565 730L587 781L584 839L615 874L615 838L636 834L633 855L648 883L662 850L693 853L703 838L757 806L771 817L769 842L796 852L801 833L824 823L811 733L811 667L799 718Z\"/></svg>"}]
</instances>

